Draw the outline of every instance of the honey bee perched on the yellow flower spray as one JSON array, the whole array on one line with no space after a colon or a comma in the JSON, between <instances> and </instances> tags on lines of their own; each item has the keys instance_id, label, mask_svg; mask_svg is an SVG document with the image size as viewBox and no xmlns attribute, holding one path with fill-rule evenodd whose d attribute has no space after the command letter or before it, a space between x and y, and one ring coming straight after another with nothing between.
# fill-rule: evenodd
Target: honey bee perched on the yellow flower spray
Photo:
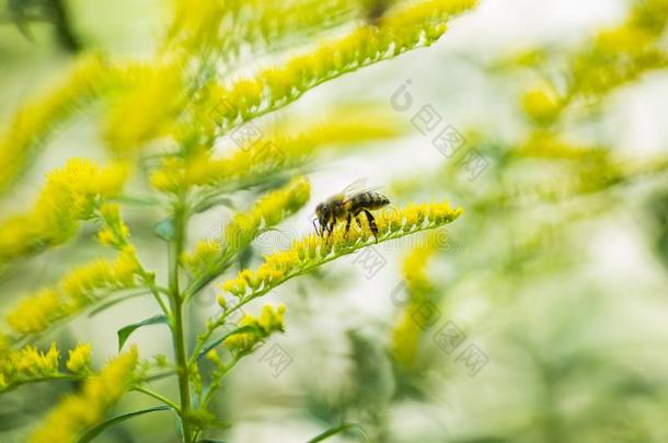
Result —
<instances>
[{"instance_id":1,"label":"honey bee perched on the yellow flower spray","mask_svg":"<svg viewBox=\"0 0 668 443\"><path fill-rule=\"evenodd\" d=\"M324 236L325 233L332 235L336 223L345 220L345 237L350 231L353 219L355 219L359 229L362 229L359 217L364 213L376 243L378 243L378 226L371 211L384 208L390 205L390 200L375 190L353 190L352 186L315 207L315 219L313 219L315 233L320 236ZM318 221L318 225L315 221Z\"/></svg>"}]
</instances>

